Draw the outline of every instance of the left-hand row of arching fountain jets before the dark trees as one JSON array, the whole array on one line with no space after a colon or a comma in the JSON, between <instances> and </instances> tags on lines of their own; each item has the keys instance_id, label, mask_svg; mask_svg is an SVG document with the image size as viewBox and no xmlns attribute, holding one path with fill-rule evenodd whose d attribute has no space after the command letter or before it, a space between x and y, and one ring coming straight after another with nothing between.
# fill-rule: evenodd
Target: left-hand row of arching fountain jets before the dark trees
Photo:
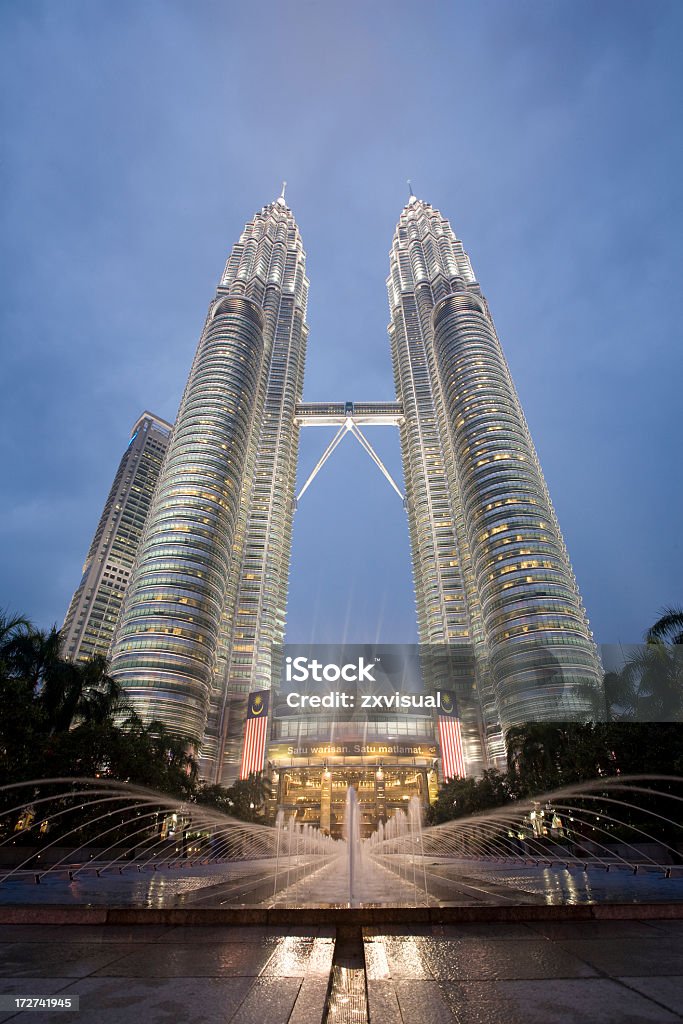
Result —
<instances>
[{"instance_id":1,"label":"left-hand row of arching fountain jets before the dark trees","mask_svg":"<svg viewBox=\"0 0 683 1024\"><path fill-rule=\"evenodd\" d=\"M23 791L30 800L20 801ZM298 877L332 853L329 837L316 829L308 829L302 848L299 830L283 828L284 815L272 828L110 779L4 786L0 807L0 902L16 901L30 882L42 887L32 902L54 901L63 887L63 902L78 902L86 893L89 902L137 904L144 893L150 905L161 873L167 904L199 900L200 890L242 879L248 883L229 890L234 902L244 896L259 902L285 884L283 857L288 876L294 870ZM145 887L150 874L155 884ZM96 892L93 879L101 880Z\"/></svg>"}]
</instances>

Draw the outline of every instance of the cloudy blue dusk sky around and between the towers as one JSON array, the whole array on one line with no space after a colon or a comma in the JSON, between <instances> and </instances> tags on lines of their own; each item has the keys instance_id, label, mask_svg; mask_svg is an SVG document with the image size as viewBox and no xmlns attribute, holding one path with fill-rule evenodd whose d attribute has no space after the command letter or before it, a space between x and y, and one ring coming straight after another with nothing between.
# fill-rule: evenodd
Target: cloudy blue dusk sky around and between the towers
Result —
<instances>
[{"instance_id":1,"label":"cloudy blue dusk sky around and between the towers","mask_svg":"<svg viewBox=\"0 0 683 1024\"><path fill-rule=\"evenodd\" d=\"M489 300L596 638L683 603L679 0L2 0L0 40L0 605L60 624L130 427L174 417L282 178L305 396L393 397L408 177ZM400 503L347 438L297 513L290 639L414 638Z\"/></svg>"}]
</instances>

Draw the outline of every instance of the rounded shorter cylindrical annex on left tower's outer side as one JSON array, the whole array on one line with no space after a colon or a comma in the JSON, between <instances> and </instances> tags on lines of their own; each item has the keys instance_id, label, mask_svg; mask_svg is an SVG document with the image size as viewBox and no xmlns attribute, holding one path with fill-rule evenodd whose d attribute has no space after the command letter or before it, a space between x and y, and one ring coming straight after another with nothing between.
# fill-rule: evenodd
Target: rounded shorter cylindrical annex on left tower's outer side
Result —
<instances>
[{"instance_id":1,"label":"rounded shorter cylindrical annex on left tower's outer side","mask_svg":"<svg viewBox=\"0 0 683 1024\"><path fill-rule=\"evenodd\" d=\"M263 361L263 315L216 296L112 650L134 705L201 742Z\"/></svg>"}]
</instances>

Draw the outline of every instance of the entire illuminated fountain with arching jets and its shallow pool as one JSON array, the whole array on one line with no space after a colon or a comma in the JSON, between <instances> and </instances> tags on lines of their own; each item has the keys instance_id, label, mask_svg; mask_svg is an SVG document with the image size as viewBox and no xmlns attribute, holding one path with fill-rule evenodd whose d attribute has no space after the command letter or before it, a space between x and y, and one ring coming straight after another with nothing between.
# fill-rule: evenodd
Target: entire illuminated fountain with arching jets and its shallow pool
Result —
<instances>
[{"instance_id":1,"label":"entire illuminated fountain with arching jets and its shallow pool","mask_svg":"<svg viewBox=\"0 0 683 1024\"><path fill-rule=\"evenodd\" d=\"M417 797L360 838L274 827L111 779L0 788L0 902L402 905L683 900L683 787L620 776L424 827Z\"/></svg>"}]
</instances>

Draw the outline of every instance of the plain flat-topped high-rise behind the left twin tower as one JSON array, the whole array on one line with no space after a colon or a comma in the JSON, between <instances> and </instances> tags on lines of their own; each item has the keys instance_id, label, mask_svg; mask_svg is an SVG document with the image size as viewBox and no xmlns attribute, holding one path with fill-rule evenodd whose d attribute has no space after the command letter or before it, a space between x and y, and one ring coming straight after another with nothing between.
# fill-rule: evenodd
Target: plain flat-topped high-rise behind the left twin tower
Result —
<instances>
[{"instance_id":1,"label":"plain flat-topped high-rise behind the left twin tower","mask_svg":"<svg viewBox=\"0 0 683 1024\"><path fill-rule=\"evenodd\" d=\"M61 628L71 660L109 653L171 429L152 413L133 426Z\"/></svg>"}]
</instances>

